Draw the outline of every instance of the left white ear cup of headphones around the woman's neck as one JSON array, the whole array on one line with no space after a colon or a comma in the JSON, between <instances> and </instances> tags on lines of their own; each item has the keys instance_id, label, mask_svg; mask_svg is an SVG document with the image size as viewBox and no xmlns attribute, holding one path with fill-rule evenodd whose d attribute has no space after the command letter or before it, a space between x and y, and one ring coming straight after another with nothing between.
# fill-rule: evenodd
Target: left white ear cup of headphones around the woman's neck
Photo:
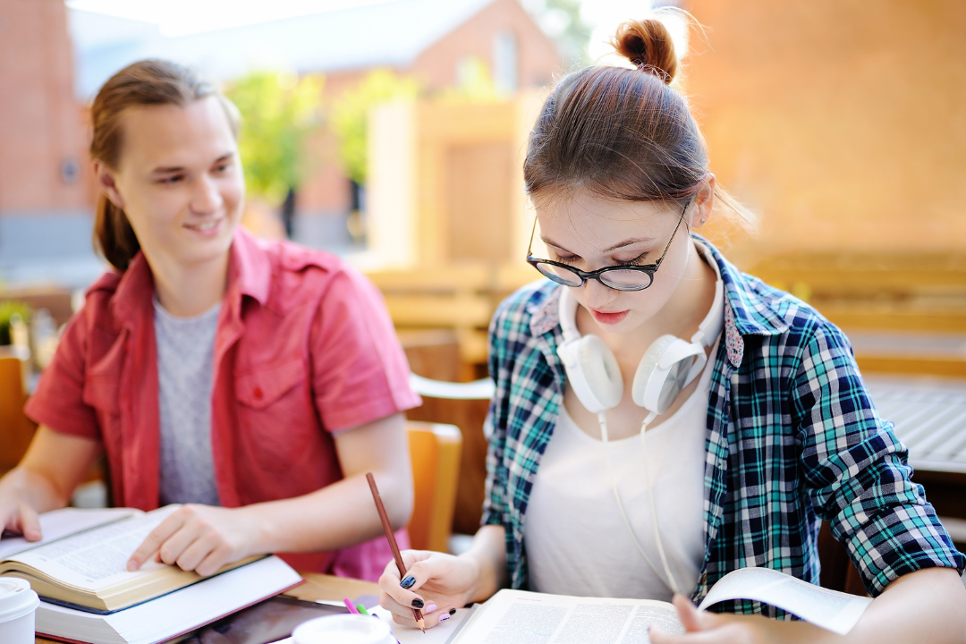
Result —
<instances>
[{"instance_id":1,"label":"left white ear cup of headphones around the woman's neck","mask_svg":"<svg viewBox=\"0 0 966 644\"><path fill-rule=\"evenodd\" d=\"M591 413L617 406L624 395L624 377L617 359L604 341L587 335L562 345L557 354L567 370L567 382Z\"/></svg>"}]
</instances>

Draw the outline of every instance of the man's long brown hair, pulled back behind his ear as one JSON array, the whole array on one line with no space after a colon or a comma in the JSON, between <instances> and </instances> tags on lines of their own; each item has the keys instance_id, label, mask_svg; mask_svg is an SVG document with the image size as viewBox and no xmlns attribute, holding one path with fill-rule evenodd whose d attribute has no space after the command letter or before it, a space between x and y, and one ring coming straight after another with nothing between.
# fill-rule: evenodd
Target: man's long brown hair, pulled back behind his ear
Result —
<instances>
[{"instance_id":1,"label":"man's long brown hair, pulled back behind his ear","mask_svg":"<svg viewBox=\"0 0 966 644\"><path fill-rule=\"evenodd\" d=\"M238 137L239 115L235 106L194 70L163 60L143 60L128 65L108 79L91 105L91 158L116 169L124 145L121 115L128 107L178 105L217 97ZM141 249L124 210L103 193L94 216L94 246L112 266L124 272Z\"/></svg>"}]
</instances>

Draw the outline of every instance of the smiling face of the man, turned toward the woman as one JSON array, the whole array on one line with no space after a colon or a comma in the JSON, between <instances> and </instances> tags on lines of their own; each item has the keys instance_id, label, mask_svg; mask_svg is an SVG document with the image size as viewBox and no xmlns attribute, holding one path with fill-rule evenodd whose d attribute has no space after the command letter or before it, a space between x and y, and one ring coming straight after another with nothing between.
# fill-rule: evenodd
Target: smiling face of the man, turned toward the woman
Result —
<instances>
[{"instance_id":1,"label":"smiling face of the man, turned toward the woman","mask_svg":"<svg viewBox=\"0 0 966 644\"><path fill-rule=\"evenodd\" d=\"M152 266L226 255L241 220L238 146L218 98L125 110L118 167L97 168Z\"/></svg>"}]
</instances>

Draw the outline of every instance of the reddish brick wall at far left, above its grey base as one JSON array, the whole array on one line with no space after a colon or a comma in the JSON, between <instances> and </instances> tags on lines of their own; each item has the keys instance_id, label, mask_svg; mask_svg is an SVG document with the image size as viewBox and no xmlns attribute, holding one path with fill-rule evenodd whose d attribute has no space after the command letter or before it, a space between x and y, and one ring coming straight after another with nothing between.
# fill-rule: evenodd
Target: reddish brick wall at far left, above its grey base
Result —
<instances>
[{"instance_id":1,"label":"reddish brick wall at far left, above its grey base","mask_svg":"<svg viewBox=\"0 0 966 644\"><path fill-rule=\"evenodd\" d=\"M0 213L89 208L63 0L0 0ZM81 173L61 178L72 158Z\"/></svg>"}]
</instances>

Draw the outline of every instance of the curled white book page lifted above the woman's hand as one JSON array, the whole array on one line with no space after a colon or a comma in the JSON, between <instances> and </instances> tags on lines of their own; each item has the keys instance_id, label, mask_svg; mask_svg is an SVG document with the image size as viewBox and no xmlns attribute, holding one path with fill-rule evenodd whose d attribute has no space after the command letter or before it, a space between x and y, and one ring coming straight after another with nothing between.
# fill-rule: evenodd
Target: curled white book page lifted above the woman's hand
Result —
<instances>
[{"instance_id":1,"label":"curled white book page lifted above the woman's hand","mask_svg":"<svg viewBox=\"0 0 966 644\"><path fill-rule=\"evenodd\" d=\"M867 597L815 586L770 568L742 568L725 574L698 608L703 610L725 600L770 603L839 635L852 630L872 602Z\"/></svg>"}]
</instances>

